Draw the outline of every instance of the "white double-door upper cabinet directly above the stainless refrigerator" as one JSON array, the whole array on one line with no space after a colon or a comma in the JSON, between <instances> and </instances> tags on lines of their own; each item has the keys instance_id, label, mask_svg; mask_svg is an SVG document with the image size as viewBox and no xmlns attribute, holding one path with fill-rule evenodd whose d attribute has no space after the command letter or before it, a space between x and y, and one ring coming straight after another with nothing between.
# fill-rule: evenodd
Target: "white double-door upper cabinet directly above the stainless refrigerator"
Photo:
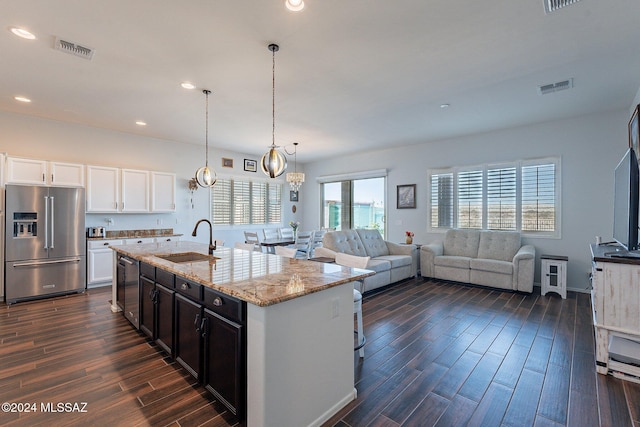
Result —
<instances>
[{"instance_id":1,"label":"white double-door upper cabinet directly above the stainless refrigerator","mask_svg":"<svg viewBox=\"0 0 640 427\"><path fill-rule=\"evenodd\" d=\"M7 157L6 183L84 187L84 166Z\"/></svg>"}]
</instances>

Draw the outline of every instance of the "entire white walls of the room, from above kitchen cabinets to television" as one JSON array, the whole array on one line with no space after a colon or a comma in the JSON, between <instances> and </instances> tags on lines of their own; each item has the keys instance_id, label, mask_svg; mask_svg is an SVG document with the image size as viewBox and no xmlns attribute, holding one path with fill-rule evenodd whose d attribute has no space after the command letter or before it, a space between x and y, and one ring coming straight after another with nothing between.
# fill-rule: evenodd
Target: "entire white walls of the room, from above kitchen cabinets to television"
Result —
<instances>
[{"instance_id":1,"label":"entire white walls of the room, from above kitchen cabinets to television","mask_svg":"<svg viewBox=\"0 0 640 427\"><path fill-rule=\"evenodd\" d=\"M320 187L316 177L386 168L389 172L387 237L402 241L404 231L411 230L416 233L416 242L425 243L440 237L428 234L426 229L427 168L560 156L562 238L526 241L536 246L538 256L541 253L569 256L569 287L586 289L589 286L587 272L590 270L588 245L596 235L604 240L611 239L613 169L627 147L629 116L629 110L623 109L298 164L299 169L304 168L306 182L300 191L295 215L291 212L293 203L288 201L289 188L283 187L283 224L297 219L301 221L302 229L310 230L320 225ZM196 191L195 208L191 209L187 189L187 181L203 163L204 147L201 145L174 143L5 112L0 112L0 129L0 151L10 155L177 174L178 206L175 214L87 215L87 226L106 225L104 219L112 217L115 224L111 229L171 227L184 234L185 238L192 239L190 234L195 222L209 217L208 192L204 189ZM215 146L210 148L210 164L219 175L227 173L221 167L221 157L230 157L234 159L230 175L262 178L260 171L254 174L242 170L244 158L259 160L257 156L225 152ZM413 183L417 184L417 208L395 209L396 186ZM158 224L158 220L162 224ZM242 231L247 228L216 227L214 237L233 245L233 242L243 240ZM205 231L201 229L198 241L206 242ZM536 269L536 281L539 281L539 263Z\"/></svg>"}]
</instances>

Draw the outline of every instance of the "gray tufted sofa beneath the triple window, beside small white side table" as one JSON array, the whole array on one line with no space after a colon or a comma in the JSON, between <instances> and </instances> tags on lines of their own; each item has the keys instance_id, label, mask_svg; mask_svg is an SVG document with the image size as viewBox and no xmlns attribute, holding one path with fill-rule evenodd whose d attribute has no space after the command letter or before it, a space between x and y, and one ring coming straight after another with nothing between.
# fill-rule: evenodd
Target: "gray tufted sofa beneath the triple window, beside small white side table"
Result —
<instances>
[{"instance_id":1,"label":"gray tufted sofa beneath the triple window, beside small white side table","mask_svg":"<svg viewBox=\"0 0 640 427\"><path fill-rule=\"evenodd\" d=\"M420 248L423 277L533 292L536 251L515 231L447 230Z\"/></svg>"}]
</instances>

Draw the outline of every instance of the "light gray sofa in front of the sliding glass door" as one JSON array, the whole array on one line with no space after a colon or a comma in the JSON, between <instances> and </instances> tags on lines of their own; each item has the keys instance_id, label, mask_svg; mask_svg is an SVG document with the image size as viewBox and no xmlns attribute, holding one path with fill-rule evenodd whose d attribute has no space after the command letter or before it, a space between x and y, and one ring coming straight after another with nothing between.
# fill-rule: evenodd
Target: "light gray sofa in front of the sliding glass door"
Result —
<instances>
[{"instance_id":1,"label":"light gray sofa in front of the sliding glass door","mask_svg":"<svg viewBox=\"0 0 640 427\"><path fill-rule=\"evenodd\" d=\"M337 252L371 257L367 270L373 270L376 274L364 279L364 292L417 274L417 247L387 242L378 230L329 231L322 238L322 247L315 249L314 257L335 259Z\"/></svg>"}]
</instances>

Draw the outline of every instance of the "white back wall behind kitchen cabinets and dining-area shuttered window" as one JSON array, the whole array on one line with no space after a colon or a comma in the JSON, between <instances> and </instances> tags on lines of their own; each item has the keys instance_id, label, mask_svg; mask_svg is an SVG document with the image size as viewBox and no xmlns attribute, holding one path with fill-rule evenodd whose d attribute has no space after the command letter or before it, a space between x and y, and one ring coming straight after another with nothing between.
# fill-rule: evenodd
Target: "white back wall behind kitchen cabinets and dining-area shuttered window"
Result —
<instances>
[{"instance_id":1,"label":"white back wall behind kitchen cabinets and dining-area shuttered window","mask_svg":"<svg viewBox=\"0 0 640 427\"><path fill-rule=\"evenodd\" d=\"M185 239L208 242L206 226L200 226L197 238L191 237L196 221L209 218L208 190L200 188L194 193L195 207L192 209L187 187L196 169L204 165L203 145L164 141L6 112L0 112L0 129L0 152L11 156L176 173L176 213L88 214L86 225L102 225L108 230L173 228L176 233L184 234ZM233 159L233 169L222 167L222 157ZM210 142L209 165L219 177L266 179L259 168L255 173L245 172L245 158L260 160L255 155L218 150ZM279 180L284 182L284 177ZM285 185L283 190L283 224L286 225L298 218L291 212L293 203L289 202L289 187ZM113 218L114 224L109 226L106 218ZM254 228L261 230L263 227ZM244 240L242 231L245 229L249 227L215 227L214 238L225 240L225 245L233 246L235 241Z\"/></svg>"}]
</instances>

